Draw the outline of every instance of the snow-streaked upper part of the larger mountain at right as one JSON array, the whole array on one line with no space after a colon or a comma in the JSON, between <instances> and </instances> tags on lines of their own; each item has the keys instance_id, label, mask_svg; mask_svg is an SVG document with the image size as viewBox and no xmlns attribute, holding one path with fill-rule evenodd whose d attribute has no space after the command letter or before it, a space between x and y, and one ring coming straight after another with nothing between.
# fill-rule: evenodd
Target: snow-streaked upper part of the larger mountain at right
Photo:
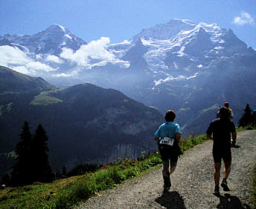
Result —
<instances>
[{"instance_id":1,"label":"snow-streaked upper part of the larger mountain at right","mask_svg":"<svg viewBox=\"0 0 256 209\"><path fill-rule=\"evenodd\" d=\"M144 59L149 70L166 74L166 79L174 70L179 70L179 76L180 71L194 73L199 68L208 67L211 62L247 51L246 44L230 29L222 29L217 24L193 24L179 19L144 29L130 42L112 44L109 48L121 58L131 47L135 47L138 39L147 48Z\"/></svg>"}]
</instances>

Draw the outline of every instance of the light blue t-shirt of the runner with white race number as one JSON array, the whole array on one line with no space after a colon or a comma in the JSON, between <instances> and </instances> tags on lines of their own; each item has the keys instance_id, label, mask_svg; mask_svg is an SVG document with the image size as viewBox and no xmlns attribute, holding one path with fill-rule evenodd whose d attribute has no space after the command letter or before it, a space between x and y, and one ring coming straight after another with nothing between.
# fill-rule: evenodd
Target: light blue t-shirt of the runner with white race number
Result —
<instances>
[{"instance_id":1,"label":"light blue t-shirt of the runner with white race number","mask_svg":"<svg viewBox=\"0 0 256 209\"><path fill-rule=\"evenodd\" d=\"M182 131L179 128L179 124L175 122L165 122L160 125L158 130L156 130L155 136L157 138L169 137L175 139L176 133L182 134Z\"/></svg>"}]
</instances>

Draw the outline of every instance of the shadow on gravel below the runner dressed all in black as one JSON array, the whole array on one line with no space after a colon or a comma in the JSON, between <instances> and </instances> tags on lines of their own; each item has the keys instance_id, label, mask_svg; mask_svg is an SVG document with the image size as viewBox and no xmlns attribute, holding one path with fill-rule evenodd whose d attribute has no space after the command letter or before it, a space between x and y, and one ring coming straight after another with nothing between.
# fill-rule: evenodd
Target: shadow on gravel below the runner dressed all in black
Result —
<instances>
[{"instance_id":1,"label":"shadow on gravel below the runner dressed all in black","mask_svg":"<svg viewBox=\"0 0 256 209\"><path fill-rule=\"evenodd\" d=\"M225 209L249 209L249 205L243 205L240 199L237 196L231 196L229 193L225 193L224 196L218 196L220 198L220 204L217 205L217 208Z\"/></svg>"}]
</instances>

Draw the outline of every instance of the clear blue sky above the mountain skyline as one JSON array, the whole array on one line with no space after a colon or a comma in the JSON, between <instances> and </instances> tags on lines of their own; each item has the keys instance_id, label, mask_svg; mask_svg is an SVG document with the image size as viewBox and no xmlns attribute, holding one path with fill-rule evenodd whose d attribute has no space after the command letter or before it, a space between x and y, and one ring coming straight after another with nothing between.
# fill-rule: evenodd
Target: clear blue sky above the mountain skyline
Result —
<instances>
[{"instance_id":1,"label":"clear blue sky above the mountain skyline","mask_svg":"<svg viewBox=\"0 0 256 209\"><path fill-rule=\"evenodd\" d=\"M255 0L0 0L0 19L0 36L32 35L56 23L86 42L105 36L111 43L170 19L190 19L231 28L256 49Z\"/></svg>"}]
</instances>

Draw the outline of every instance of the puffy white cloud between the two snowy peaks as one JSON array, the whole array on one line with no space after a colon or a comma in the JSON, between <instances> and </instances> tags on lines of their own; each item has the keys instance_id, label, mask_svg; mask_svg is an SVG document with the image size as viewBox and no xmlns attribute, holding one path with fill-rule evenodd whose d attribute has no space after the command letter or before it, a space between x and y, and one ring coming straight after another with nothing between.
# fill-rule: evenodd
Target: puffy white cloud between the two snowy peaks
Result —
<instances>
[{"instance_id":1,"label":"puffy white cloud between the two snowy peaks","mask_svg":"<svg viewBox=\"0 0 256 209\"><path fill-rule=\"evenodd\" d=\"M94 66L102 66L109 62L112 64L122 64L124 67L129 67L129 62L124 62L119 59L115 59L115 55L106 47L109 45L109 38L101 37L96 41L92 41L89 44L82 45L79 50L73 51L68 48L64 48L60 57L76 63L78 66L86 68L92 68Z\"/></svg>"}]
</instances>

